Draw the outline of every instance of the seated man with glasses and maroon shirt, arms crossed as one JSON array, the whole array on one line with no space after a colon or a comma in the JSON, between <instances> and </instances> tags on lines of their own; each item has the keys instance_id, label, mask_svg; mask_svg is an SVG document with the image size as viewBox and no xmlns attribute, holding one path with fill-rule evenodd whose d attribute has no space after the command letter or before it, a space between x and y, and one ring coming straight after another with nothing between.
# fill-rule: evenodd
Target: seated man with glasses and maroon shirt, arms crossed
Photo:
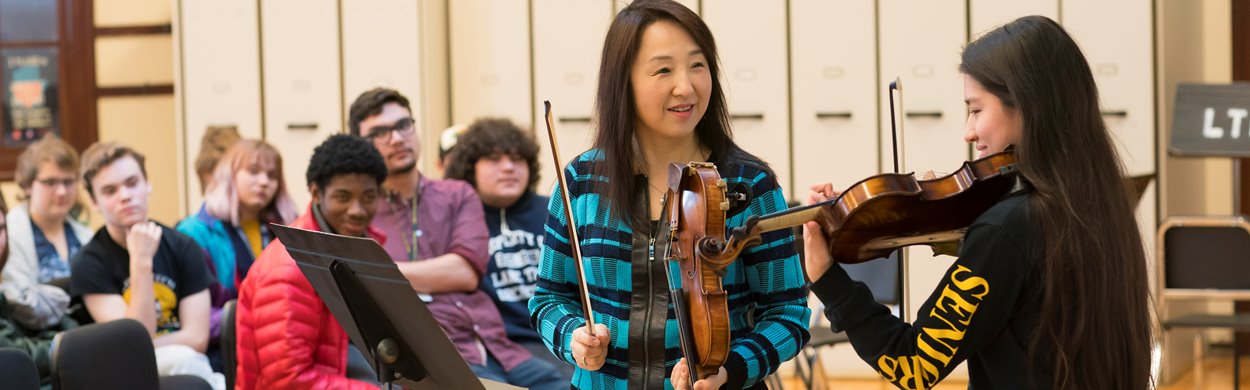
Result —
<instances>
[{"instance_id":1,"label":"seated man with glasses and maroon shirt, arms crossed","mask_svg":"<svg viewBox=\"0 0 1250 390\"><path fill-rule=\"evenodd\" d=\"M396 240L382 246L474 374L529 389L566 388L554 366L508 339L499 309L479 289L489 240L481 201L469 184L416 169L421 148L408 98L372 89L348 116L351 132L368 136L390 170L374 226Z\"/></svg>"}]
</instances>

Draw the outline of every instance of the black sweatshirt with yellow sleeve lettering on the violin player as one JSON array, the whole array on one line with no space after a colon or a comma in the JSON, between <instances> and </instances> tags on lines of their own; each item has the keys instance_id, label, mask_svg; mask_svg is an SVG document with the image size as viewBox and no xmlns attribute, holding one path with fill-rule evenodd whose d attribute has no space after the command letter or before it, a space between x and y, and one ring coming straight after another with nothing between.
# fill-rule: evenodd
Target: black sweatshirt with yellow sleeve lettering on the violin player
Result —
<instances>
[{"instance_id":1,"label":"black sweatshirt with yellow sleeve lettering on the violin player","mask_svg":"<svg viewBox=\"0 0 1250 390\"><path fill-rule=\"evenodd\" d=\"M1026 356L1041 264L1026 196L1008 196L972 222L959 259L912 324L874 301L840 266L830 268L811 290L834 331L846 331L860 358L901 389L930 389L964 360L970 389L1046 388L1045 372L1031 371Z\"/></svg>"}]
</instances>

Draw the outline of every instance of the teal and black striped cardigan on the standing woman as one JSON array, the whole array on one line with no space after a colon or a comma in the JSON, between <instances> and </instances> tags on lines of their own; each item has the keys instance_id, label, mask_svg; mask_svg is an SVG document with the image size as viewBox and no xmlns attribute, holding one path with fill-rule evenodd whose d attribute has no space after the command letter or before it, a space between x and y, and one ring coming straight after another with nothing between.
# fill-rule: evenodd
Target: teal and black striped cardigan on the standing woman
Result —
<instances>
[{"instance_id":1,"label":"teal and black striped cardigan on the standing woman","mask_svg":"<svg viewBox=\"0 0 1250 390\"><path fill-rule=\"evenodd\" d=\"M602 162L602 152L585 152L566 166L564 174L572 189L570 198L595 321L608 326L611 341L606 364L598 371L579 368L572 385L578 389L626 389L634 231L619 211L611 210L608 195L596 191L594 184L608 180L590 174L596 161ZM786 208L776 179L762 166L721 162L718 170L730 188L742 182L755 194L745 211L729 216L728 228L741 226L749 215ZM566 226L561 196L551 196L538 289L530 300L530 320L548 349L574 364L569 342L572 330L584 326L585 319ZM762 244L745 250L726 269L724 288L729 292L731 349L724 366L730 389L754 386L808 342L811 310L794 242L789 230L764 234ZM664 328L665 388L671 389L668 378L681 358L671 302L668 318Z\"/></svg>"}]
</instances>

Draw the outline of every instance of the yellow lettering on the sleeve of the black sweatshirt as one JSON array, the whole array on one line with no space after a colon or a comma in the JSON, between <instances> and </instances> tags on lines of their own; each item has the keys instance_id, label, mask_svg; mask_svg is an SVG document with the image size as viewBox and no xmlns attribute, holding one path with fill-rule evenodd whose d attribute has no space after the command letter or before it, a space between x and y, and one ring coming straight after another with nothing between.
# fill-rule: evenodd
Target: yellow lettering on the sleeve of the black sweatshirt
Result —
<instances>
[{"instance_id":1,"label":"yellow lettering on the sleeve of the black sweatshirt","mask_svg":"<svg viewBox=\"0 0 1250 390\"><path fill-rule=\"evenodd\" d=\"M916 349L920 354L882 355L876 360L876 370L881 376L899 388L911 390L930 389L938 384L941 370L951 364L959 351L978 305L990 294L990 282L980 276L961 275L969 272L971 270L962 265L950 272L950 282L942 288L929 311L929 318L938 320L929 322L938 325L916 329Z\"/></svg>"}]
</instances>

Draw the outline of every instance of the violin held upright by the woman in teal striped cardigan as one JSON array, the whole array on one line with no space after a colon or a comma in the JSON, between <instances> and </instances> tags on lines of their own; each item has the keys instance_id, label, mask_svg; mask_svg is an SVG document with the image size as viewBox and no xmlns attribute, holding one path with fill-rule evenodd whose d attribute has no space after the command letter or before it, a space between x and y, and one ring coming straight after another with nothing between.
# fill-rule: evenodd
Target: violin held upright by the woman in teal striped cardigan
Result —
<instances>
[{"instance_id":1,"label":"violin held upright by the woman in teal striped cardigan","mask_svg":"<svg viewBox=\"0 0 1250 390\"><path fill-rule=\"evenodd\" d=\"M691 385L716 375L729 356L729 299L721 279L739 251L726 250L725 216L731 205L745 201L745 195L726 191L711 162L669 166L652 250L665 259Z\"/></svg>"}]
</instances>

